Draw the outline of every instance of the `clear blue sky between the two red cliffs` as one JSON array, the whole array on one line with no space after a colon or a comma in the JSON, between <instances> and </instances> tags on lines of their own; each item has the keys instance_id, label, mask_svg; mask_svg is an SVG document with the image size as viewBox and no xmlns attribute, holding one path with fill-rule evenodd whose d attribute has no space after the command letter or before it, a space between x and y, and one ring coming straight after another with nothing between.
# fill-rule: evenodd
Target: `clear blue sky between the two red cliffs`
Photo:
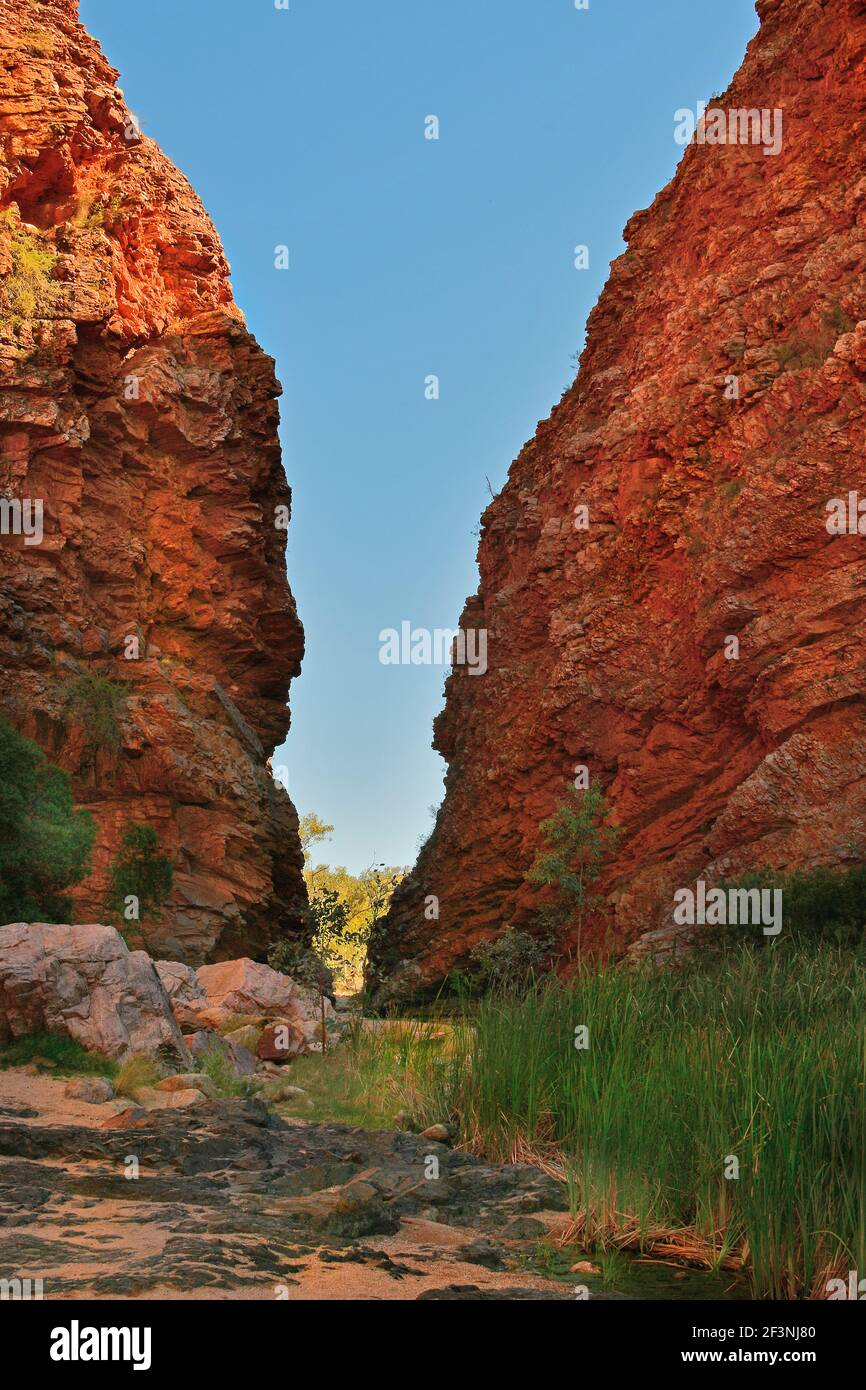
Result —
<instances>
[{"instance_id":1,"label":"clear blue sky between the two red cliffs","mask_svg":"<svg viewBox=\"0 0 866 1390\"><path fill-rule=\"evenodd\" d=\"M382 666L379 631L456 627L487 480L573 379L621 229L681 158L674 111L727 86L753 3L81 0L81 18L214 218L284 385L307 655L274 762L335 824L332 862L410 863L442 798L445 671Z\"/></svg>"}]
</instances>

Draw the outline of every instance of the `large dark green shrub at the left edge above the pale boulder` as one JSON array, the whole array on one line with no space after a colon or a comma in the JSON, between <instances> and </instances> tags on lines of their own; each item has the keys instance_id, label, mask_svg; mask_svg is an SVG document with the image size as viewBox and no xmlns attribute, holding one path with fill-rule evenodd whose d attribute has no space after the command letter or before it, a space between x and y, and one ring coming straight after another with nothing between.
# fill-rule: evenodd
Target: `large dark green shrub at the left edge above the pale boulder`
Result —
<instances>
[{"instance_id":1,"label":"large dark green shrub at the left edge above the pale boulder","mask_svg":"<svg viewBox=\"0 0 866 1390\"><path fill-rule=\"evenodd\" d=\"M95 834L67 773L0 716L0 923L68 922Z\"/></svg>"}]
</instances>

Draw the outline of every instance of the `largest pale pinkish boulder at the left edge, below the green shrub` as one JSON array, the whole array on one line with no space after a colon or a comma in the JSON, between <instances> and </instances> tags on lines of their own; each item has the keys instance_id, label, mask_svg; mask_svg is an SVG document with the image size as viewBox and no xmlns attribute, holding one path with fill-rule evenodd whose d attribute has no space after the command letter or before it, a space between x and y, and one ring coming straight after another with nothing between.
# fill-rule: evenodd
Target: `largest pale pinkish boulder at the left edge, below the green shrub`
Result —
<instances>
[{"instance_id":1,"label":"largest pale pinkish boulder at the left edge, below the green shrub","mask_svg":"<svg viewBox=\"0 0 866 1390\"><path fill-rule=\"evenodd\" d=\"M189 1065L153 960L114 927L0 927L0 1044L29 1033L63 1033L107 1056L163 1049Z\"/></svg>"}]
</instances>

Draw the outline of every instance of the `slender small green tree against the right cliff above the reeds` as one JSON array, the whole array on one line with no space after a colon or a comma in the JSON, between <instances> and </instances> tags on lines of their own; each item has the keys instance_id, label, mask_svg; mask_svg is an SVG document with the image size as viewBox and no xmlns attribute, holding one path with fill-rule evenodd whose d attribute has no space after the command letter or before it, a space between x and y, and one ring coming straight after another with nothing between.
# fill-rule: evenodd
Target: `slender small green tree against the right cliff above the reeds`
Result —
<instances>
[{"instance_id":1,"label":"slender small green tree against the right cliff above the reeds","mask_svg":"<svg viewBox=\"0 0 866 1390\"><path fill-rule=\"evenodd\" d=\"M563 906L569 912L577 910L578 965L584 912L601 901L589 885L599 877L605 858L620 838L614 826L605 824L609 813L610 805L601 787L591 785L582 792L569 787L566 801L541 823L549 848L537 853L527 873L528 883L557 888Z\"/></svg>"}]
</instances>

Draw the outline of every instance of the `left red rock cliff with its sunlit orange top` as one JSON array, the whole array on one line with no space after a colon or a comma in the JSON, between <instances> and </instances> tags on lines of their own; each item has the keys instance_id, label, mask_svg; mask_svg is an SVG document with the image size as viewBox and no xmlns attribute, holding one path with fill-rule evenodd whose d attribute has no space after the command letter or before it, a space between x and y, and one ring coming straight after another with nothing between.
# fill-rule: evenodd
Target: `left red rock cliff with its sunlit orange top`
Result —
<instances>
[{"instance_id":1,"label":"left red rock cliff with its sunlit orange top","mask_svg":"<svg viewBox=\"0 0 866 1390\"><path fill-rule=\"evenodd\" d=\"M0 0L0 496L44 512L40 543L0 542L0 708L96 819L78 920L147 821L175 867L147 949L261 955L306 902L265 767L303 655L281 388L115 78L71 0ZM122 687L108 737L82 676Z\"/></svg>"}]
</instances>

